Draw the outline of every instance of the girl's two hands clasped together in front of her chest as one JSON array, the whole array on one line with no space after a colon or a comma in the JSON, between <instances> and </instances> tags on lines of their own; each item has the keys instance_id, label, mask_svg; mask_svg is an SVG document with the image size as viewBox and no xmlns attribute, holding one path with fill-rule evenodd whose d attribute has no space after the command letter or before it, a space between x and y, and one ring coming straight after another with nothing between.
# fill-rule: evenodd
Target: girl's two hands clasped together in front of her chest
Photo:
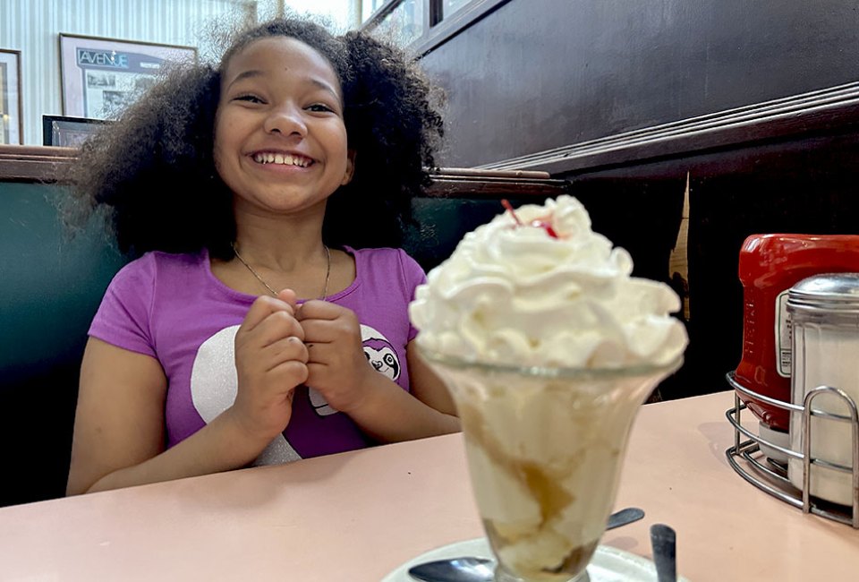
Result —
<instances>
[{"instance_id":1,"label":"girl's two hands clasped together in front of her chest","mask_svg":"<svg viewBox=\"0 0 859 582\"><path fill-rule=\"evenodd\" d=\"M291 289L260 296L235 334L238 392L231 412L263 440L289 424L300 384L349 414L370 389L370 374L378 373L364 355L354 312L319 300L298 305L296 299Z\"/></svg>"}]
</instances>

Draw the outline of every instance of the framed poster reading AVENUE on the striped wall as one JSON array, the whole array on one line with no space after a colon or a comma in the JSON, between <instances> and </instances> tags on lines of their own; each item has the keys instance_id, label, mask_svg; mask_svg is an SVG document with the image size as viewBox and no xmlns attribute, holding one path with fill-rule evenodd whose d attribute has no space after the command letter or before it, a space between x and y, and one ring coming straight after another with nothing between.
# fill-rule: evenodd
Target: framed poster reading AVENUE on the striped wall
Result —
<instances>
[{"instance_id":1,"label":"framed poster reading AVENUE on the striped wall","mask_svg":"<svg viewBox=\"0 0 859 582\"><path fill-rule=\"evenodd\" d=\"M60 34L65 116L109 119L149 89L168 64L194 62L195 47Z\"/></svg>"}]
</instances>

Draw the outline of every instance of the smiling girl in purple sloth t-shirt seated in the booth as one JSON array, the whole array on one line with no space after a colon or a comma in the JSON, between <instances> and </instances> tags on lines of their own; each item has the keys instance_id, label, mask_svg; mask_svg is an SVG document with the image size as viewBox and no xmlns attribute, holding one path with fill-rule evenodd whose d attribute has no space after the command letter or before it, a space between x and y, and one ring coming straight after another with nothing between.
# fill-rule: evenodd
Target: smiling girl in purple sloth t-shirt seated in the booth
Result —
<instances>
[{"instance_id":1,"label":"smiling girl in purple sloth t-shirt seated in the booth","mask_svg":"<svg viewBox=\"0 0 859 582\"><path fill-rule=\"evenodd\" d=\"M412 348L423 272L373 248L441 133L393 48L279 20L86 143L73 190L139 258L89 330L68 493L458 430Z\"/></svg>"}]
</instances>

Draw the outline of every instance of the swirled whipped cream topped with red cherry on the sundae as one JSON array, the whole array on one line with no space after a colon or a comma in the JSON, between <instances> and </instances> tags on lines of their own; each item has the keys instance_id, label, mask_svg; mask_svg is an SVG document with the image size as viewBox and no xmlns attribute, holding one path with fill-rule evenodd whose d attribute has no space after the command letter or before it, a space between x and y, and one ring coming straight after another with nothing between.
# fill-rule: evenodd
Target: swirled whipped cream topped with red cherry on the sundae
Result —
<instances>
[{"instance_id":1,"label":"swirled whipped cream topped with red cherry on the sundae","mask_svg":"<svg viewBox=\"0 0 859 582\"><path fill-rule=\"evenodd\" d=\"M688 341L665 285L591 230L572 196L506 212L464 236L410 305L418 344L486 364L617 368L674 362Z\"/></svg>"}]
</instances>

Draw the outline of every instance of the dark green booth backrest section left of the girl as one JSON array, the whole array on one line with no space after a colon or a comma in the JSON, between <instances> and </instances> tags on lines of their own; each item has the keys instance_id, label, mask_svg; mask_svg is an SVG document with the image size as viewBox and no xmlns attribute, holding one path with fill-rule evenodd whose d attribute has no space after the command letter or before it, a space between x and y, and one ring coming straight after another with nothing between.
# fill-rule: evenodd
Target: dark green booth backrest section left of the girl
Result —
<instances>
[{"instance_id":1,"label":"dark green booth backrest section left of the girl","mask_svg":"<svg viewBox=\"0 0 859 582\"><path fill-rule=\"evenodd\" d=\"M89 321L124 263L95 223L68 234L61 195L0 182L0 505L64 494Z\"/></svg>"}]
</instances>

